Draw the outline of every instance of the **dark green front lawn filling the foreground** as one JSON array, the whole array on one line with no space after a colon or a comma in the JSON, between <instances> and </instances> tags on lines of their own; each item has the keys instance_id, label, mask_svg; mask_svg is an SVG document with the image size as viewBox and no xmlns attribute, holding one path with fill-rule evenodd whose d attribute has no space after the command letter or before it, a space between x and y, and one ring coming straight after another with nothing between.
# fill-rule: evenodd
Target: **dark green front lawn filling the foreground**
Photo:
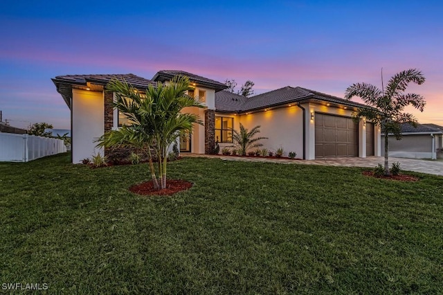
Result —
<instances>
[{"instance_id":1,"label":"dark green front lawn filling the foreground","mask_svg":"<svg viewBox=\"0 0 443 295\"><path fill-rule=\"evenodd\" d=\"M183 159L172 197L145 164L67 154L0 164L0 284L50 294L442 294L443 178Z\"/></svg>"}]
</instances>

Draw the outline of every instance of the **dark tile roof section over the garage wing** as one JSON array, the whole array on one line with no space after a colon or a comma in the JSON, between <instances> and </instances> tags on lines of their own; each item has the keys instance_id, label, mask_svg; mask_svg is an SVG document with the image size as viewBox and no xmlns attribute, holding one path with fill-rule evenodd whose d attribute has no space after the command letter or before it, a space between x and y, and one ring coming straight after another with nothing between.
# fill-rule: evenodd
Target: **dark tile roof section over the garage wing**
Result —
<instances>
[{"instance_id":1,"label":"dark tile roof section over the garage wing","mask_svg":"<svg viewBox=\"0 0 443 295\"><path fill-rule=\"evenodd\" d=\"M233 98L237 98L237 100ZM284 105L290 102L301 102L302 100L322 100L351 107L368 107L367 105L358 102L330 96L329 94L318 91L302 87L287 86L257 94L250 98L245 98L244 96L239 96L235 93L229 93L228 91L220 91L215 93L215 109L217 109L217 111L221 109L221 111L244 112L253 111L255 109L264 109L265 107Z\"/></svg>"}]
</instances>

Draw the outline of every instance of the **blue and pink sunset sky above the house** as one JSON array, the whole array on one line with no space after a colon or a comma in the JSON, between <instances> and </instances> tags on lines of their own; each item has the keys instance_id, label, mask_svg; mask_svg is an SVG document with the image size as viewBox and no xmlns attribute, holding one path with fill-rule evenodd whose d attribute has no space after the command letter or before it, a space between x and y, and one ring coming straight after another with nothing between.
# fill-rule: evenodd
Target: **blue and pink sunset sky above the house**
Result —
<instances>
[{"instance_id":1,"label":"blue and pink sunset sky above the house","mask_svg":"<svg viewBox=\"0 0 443 295\"><path fill-rule=\"evenodd\" d=\"M15 127L70 128L51 78L175 69L255 94L305 87L343 98L417 68L419 123L443 125L442 1L1 1L0 110ZM354 98L355 101L361 100Z\"/></svg>"}]
</instances>

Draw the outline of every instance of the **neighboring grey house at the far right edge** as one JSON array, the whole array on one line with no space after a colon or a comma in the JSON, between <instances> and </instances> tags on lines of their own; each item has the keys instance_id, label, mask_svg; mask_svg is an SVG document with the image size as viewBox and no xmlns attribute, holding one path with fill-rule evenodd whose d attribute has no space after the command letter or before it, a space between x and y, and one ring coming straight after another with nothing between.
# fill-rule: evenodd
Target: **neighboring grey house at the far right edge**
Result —
<instances>
[{"instance_id":1,"label":"neighboring grey house at the far right edge","mask_svg":"<svg viewBox=\"0 0 443 295\"><path fill-rule=\"evenodd\" d=\"M401 140L389 134L389 157L437 159L442 157L443 127L435 124L401 124ZM381 134L384 142L384 134ZM384 156L384 148L381 155Z\"/></svg>"}]
</instances>

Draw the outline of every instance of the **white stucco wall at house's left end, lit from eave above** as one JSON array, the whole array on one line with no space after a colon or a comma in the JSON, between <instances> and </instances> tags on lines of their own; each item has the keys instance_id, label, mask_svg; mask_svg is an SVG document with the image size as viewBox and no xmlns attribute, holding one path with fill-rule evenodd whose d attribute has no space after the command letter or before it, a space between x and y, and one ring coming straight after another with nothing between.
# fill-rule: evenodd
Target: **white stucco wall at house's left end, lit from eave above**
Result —
<instances>
[{"instance_id":1,"label":"white stucco wall at house's left end, lit from eave above","mask_svg":"<svg viewBox=\"0 0 443 295\"><path fill-rule=\"evenodd\" d=\"M72 161L80 163L94 154L103 155L94 140L105 131L105 104L103 92L80 89L72 92Z\"/></svg>"}]
</instances>

